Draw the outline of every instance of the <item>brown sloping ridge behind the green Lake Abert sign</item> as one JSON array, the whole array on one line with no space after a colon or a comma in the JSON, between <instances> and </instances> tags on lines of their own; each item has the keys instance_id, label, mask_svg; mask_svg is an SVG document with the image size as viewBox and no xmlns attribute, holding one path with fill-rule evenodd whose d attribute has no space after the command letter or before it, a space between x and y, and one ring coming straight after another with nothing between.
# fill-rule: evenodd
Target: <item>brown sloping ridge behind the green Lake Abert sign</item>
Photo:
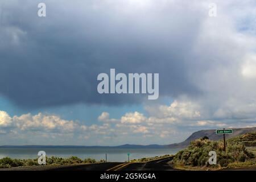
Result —
<instances>
[{"instance_id":1,"label":"brown sloping ridge behind the green Lake Abert sign","mask_svg":"<svg viewBox=\"0 0 256 182\"><path fill-rule=\"evenodd\" d=\"M249 132L256 132L256 127L247 127L242 129L233 129L233 134L226 134L226 139L237 137ZM220 140L223 135L217 135L216 130L200 130L196 131L190 137L188 137L184 142L169 144L168 148L186 148L192 140L199 139L201 137L208 137L210 140Z\"/></svg>"}]
</instances>

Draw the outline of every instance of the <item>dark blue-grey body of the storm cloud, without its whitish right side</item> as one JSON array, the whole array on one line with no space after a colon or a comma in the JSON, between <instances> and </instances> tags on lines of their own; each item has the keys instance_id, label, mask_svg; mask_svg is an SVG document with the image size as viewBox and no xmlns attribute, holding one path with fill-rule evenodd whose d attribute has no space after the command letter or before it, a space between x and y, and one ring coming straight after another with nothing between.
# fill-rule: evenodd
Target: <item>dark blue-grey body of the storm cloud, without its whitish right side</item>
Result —
<instances>
[{"instance_id":1,"label":"dark blue-grey body of the storm cloud, without its whitish right side","mask_svg":"<svg viewBox=\"0 0 256 182\"><path fill-rule=\"evenodd\" d=\"M1 2L0 92L20 106L131 104L145 96L100 95L97 75L159 73L160 96L197 93L189 50L200 23L176 7L101 1ZM185 7L184 7L185 8ZM182 20L181 20L182 19Z\"/></svg>"}]
</instances>

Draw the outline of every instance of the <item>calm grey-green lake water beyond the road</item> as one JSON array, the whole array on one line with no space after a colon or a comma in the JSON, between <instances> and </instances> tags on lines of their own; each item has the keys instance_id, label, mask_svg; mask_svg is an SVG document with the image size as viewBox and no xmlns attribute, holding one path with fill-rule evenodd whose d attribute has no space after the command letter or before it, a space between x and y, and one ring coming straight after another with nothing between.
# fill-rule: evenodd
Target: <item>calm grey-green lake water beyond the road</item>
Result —
<instances>
[{"instance_id":1,"label":"calm grey-green lake water beyond the road","mask_svg":"<svg viewBox=\"0 0 256 182\"><path fill-rule=\"evenodd\" d=\"M96 160L105 159L108 156L109 162L124 162L127 160L127 153L130 153L130 160L176 154L179 149L157 148L157 149L126 149L126 148L0 148L0 159L10 157L15 159L36 159L38 152L45 151L47 156L58 156L68 158L77 156L81 159L93 158Z\"/></svg>"}]
</instances>

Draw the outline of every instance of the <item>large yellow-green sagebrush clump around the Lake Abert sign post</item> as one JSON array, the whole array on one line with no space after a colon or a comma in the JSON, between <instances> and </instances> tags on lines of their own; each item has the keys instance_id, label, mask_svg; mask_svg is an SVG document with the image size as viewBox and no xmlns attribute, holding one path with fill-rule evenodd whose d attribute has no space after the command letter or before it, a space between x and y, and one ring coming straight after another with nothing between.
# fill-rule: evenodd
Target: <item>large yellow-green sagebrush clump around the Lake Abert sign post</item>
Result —
<instances>
[{"instance_id":1,"label":"large yellow-green sagebrush clump around the Lake Abert sign post","mask_svg":"<svg viewBox=\"0 0 256 182\"><path fill-rule=\"evenodd\" d=\"M245 162L254 158L254 154L249 152L242 143L228 144L226 152L223 151L222 141L211 141L207 138L193 140L188 148L177 152L174 163L185 166L208 166L209 151L216 151L217 163L220 166L228 166L233 162Z\"/></svg>"}]
</instances>

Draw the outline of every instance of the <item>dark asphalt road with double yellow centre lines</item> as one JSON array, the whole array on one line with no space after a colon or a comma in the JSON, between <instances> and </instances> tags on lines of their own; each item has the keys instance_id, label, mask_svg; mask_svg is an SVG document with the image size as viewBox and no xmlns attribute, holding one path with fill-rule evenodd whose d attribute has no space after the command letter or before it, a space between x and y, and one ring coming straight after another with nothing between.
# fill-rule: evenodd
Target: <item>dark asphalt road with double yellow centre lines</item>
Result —
<instances>
[{"instance_id":1,"label":"dark asphalt road with double yellow centre lines","mask_svg":"<svg viewBox=\"0 0 256 182\"><path fill-rule=\"evenodd\" d=\"M158 159L147 163L100 163L68 166L50 169L51 171L166 171L174 170L169 162L172 157Z\"/></svg>"}]
</instances>

